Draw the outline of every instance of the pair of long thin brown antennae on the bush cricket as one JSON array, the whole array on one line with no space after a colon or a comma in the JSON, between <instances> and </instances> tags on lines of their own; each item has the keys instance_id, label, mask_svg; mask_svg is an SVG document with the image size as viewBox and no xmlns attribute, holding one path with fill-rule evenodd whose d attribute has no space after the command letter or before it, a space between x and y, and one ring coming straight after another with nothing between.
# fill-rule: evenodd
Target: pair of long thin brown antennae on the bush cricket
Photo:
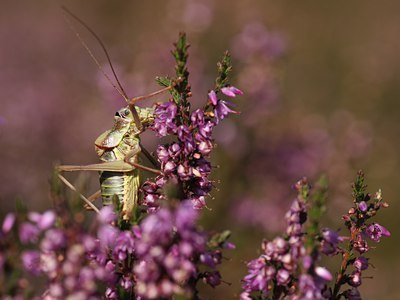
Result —
<instances>
[{"instance_id":1,"label":"pair of long thin brown antennae on the bush cricket","mask_svg":"<svg viewBox=\"0 0 400 300\"><path fill-rule=\"evenodd\" d=\"M114 87L114 89L124 98L124 100L129 104L129 108L132 111L133 114L133 118L135 120L136 126L138 126L138 128L142 128L142 123L140 122L140 118L139 115L136 111L135 106L130 103L129 97L126 94L124 88L122 87L121 82L118 79L117 73L115 72L115 69L113 67L113 64L111 62L111 58L110 55L108 54L108 51L106 49L106 47L104 46L103 42L101 41L101 39L99 38L99 36L94 32L93 29L91 29L89 27L89 25L87 25L83 20L81 20L78 16L76 16L74 13L72 13L70 10L68 10L65 6L61 6L62 10L70 15L72 18L74 18L77 22L79 22L83 27L85 27L92 35L93 37L97 40L97 42L99 43L99 45L101 46L101 48L104 51L104 54L107 57L107 61L108 64L110 65L111 71L114 75L115 80L117 81L118 87L113 83L113 81L111 80L111 78L107 75L107 73L104 71L103 67L100 65L99 61L97 60L97 58L94 56L93 52L90 50L89 46L85 43L85 41L81 38L79 32L77 30L75 30L74 26L71 24L71 22L69 21L69 19L66 17L66 15L64 15L64 19L67 22L69 28L72 30L72 32L75 33L76 37L79 39L80 43L82 44L82 46L85 48L85 50L88 52L88 54L90 55L90 57L92 58L92 60L95 62L95 64L97 65L97 67L100 69L100 71L103 73L103 75L107 78L107 80L109 81L109 83Z\"/></svg>"}]
</instances>

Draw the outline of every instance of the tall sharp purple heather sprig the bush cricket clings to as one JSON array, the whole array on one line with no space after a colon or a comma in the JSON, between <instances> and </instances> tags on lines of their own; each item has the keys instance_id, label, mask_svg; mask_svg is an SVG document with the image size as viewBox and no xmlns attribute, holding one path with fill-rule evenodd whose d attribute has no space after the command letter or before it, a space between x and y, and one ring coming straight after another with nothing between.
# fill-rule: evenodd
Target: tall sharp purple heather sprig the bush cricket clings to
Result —
<instances>
[{"instance_id":1,"label":"tall sharp purple heather sprig the bush cricket clings to","mask_svg":"<svg viewBox=\"0 0 400 300\"><path fill-rule=\"evenodd\" d=\"M172 85L172 99L156 106L152 128L159 137L168 136L172 141L160 144L156 150L163 175L146 181L142 186L143 204L149 211L156 210L160 200L166 199L163 189L168 184L175 186L172 198L190 200L196 209L206 206L206 197L213 188L209 178L212 171L209 157L214 148L213 130L229 114L238 113L218 94L230 98L243 94L229 84L228 74L232 66L226 52L218 63L215 89L209 91L208 100L202 108L191 111L188 98L192 93L186 67L188 47L186 36L181 34L172 51L176 61L176 78L157 79L163 86Z\"/></svg>"}]
</instances>

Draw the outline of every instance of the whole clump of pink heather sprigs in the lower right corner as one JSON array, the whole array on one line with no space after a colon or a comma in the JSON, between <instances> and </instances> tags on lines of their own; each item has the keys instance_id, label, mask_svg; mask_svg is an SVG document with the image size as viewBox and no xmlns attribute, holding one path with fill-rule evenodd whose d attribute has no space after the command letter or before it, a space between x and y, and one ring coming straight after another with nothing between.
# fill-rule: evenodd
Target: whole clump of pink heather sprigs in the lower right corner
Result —
<instances>
[{"instance_id":1,"label":"whole clump of pink heather sprigs in the lower right corner","mask_svg":"<svg viewBox=\"0 0 400 300\"><path fill-rule=\"evenodd\" d=\"M298 196L286 213L286 232L262 243L262 254L247 264L241 299L361 299L358 287L369 267L369 241L379 242L390 232L371 221L388 207L381 191L366 193L360 171L353 184L353 205L342 219L346 233L321 227L326 185L312 191L305 179L296 183ZM342 257L332 273L322 266L323 256Z\"/></svg>"}]
</instances>

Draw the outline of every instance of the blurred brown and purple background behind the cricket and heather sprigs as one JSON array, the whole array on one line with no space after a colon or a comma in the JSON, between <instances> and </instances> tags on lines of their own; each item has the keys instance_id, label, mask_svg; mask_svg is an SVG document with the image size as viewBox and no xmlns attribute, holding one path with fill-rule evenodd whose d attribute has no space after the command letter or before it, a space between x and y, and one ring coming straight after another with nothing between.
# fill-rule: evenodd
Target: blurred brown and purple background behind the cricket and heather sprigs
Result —
<instances>
[{"instance_id":1,"label":"blurred brown and purple background behind the cricket and heather sprigs","mask_svg":"<svg viewBox=\"0 0 400 300\"><path fill-rule=\"evenodd\" d=\"M56 162L97 161L93 142L124 105L74 33L61 2L8 1L0 11L0 214L22 199L51 206L48 180ZM220 180L205 228L233 230L237 250L208 298L237 298L247 259L262 237L283 226L302 176L328 176L326 225L338 227L350 205L350 182L364 169L369 190L382 188L391 209L381 214L393 237L373 254L365 299L394 299L399 209L400 28L396 1L62 1L102 38L131 96L158 89L173 72L179 31L188 34L193 101L213 87L215 63L233 55L233 82L245 92L242 114L216 133ZM75 24L75 23L74 23ZM93 38L74 25L98 59ZM154 101L166 100L160 96ZM151 102L148 102L150 104ZM144 103L144 105L146 105ZM154 149L152 134L144 143ZM92 185L97 176L92 174ZM95 188L95 187L94 187ZM222 217L221 217L222 216ZM206 297L206 298L207 298Z\"/></svg>"}]
</instances>

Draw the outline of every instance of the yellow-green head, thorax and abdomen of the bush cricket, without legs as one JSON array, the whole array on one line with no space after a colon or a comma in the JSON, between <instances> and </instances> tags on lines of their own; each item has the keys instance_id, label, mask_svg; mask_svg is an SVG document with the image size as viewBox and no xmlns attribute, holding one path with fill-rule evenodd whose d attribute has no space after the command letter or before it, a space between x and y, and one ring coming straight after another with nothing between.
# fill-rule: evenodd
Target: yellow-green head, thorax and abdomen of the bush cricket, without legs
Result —
<instances>
[{"instance_id":1,"label":"yellow-green head, thorax and abdomen of the bush cricket, without legs","mask_svg":"<svg viewBox=\"0 0 400 300\"><path fill-rule=\"evenodd\" d=\"M154 120L153 108L136 107L139 119L143 126ZM139 163L140 138L142 132L134 121L129 107L124 107L116 112L112 129L105 131L95 141L95 149L105 163L125 162ZM131 171L100 171L100 190L103 205L110 205L114 195L118 196L122 204L124 219L129 219L138 203L138 190L140 187L140 170L132 168Z\"/></svg>"}]
</instances>

